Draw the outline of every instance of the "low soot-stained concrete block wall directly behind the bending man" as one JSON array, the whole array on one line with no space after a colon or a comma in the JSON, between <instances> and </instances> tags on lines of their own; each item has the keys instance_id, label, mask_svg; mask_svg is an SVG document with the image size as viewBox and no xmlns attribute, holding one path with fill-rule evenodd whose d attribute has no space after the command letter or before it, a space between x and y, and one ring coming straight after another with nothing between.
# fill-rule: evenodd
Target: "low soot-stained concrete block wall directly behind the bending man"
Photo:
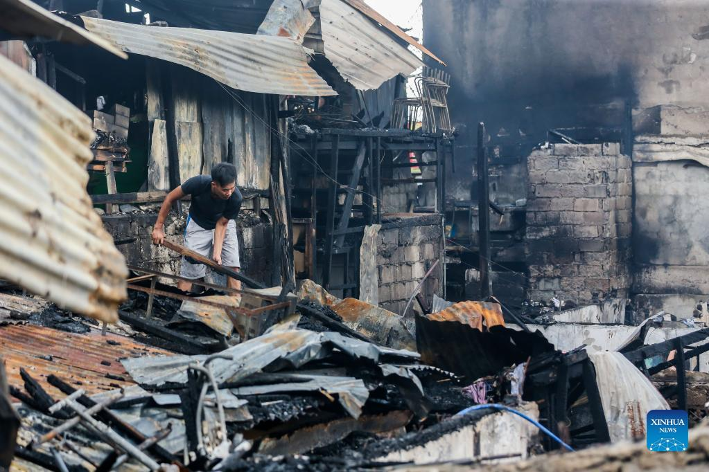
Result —
<instances>
[{"instance_id":1,"label":"low soot-stained concrete block wall directly behind the bending man","mask_svg":"<svg viewBox=\"0 0 709 472\"><path fill-rule=\"evenodd\" d=\"M117 213L104 215L102 218L106 231L114 239L137 238L133 243L118 246L118 250L125 256L126 263L179 275L181 256L163 246L155 246L150 240L157 214ZM164 230L167 238L182 244L185 221L184 215L171 212L165 221ZM268 284L273 258L271 226L257 224L250 227L237 227L237 233L241 269L246 275Z\"/></svg>"}]
</instances>

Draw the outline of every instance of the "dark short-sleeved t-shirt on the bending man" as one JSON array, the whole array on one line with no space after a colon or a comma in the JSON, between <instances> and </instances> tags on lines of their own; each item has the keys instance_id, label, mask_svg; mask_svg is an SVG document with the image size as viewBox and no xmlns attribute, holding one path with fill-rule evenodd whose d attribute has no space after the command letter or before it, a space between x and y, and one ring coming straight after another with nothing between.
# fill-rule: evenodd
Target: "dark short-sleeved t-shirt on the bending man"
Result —
<instances>
[{"instance_id":1,"label":"dark short-sleeved t-shirt on the bending man","mask_svg":"<svg viewBox=\"0 0 709 472\"><path fill-rule=\"evenodd\" d=\"M229 200L214 197L211 184L210 175L196 175L181 185L182 191L191 195L190 217L204 229L214 229L221 217L236 219L243 200L238 188L234 189Z\"/></svg>"}]
</instances>

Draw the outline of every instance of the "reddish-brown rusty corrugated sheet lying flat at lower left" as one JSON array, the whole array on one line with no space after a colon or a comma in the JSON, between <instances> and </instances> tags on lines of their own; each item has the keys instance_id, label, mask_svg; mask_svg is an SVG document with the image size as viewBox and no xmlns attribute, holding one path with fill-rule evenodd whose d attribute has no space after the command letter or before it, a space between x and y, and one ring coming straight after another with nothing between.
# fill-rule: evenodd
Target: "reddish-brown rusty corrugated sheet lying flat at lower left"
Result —
<instances>
[{"instance_id":1,"label":"reddish-brown rusty corrugated sheet lying flat at lower left","mask_svg":"<svg viewBox=\"0 0 709 472\"><path fill-rule=\"evenodd\" d=\"M89 394L100 393L134 384L118 359L157 354L169 352L111 333L75 334L35 325L0 327L0 357L5 361L9 384L23 388L20 376L23 368L50 395L59 398L64 394L47 383L50 374L84 388ZM51 356L52 360L40 356ZM125 381L109 379L106 374L121 376Z\"/></svg>"}]
</instances>

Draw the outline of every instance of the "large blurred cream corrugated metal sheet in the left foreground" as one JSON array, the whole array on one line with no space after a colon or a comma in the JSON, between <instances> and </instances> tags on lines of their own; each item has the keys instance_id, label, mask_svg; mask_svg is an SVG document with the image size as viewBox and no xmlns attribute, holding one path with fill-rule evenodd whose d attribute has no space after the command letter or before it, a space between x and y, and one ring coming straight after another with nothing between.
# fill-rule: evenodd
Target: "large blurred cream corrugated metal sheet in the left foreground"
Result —
<instances>
[{"instance_id":1,"label":"large blurred cream corrugated metal sheet in the left foreground","mask_svg":"<svg viewBox=\"0 0 709 472\"><path fill-rule=\"evenodd\" d=\"M93 139L89 117L0 56L0 277L113 322L128 270L86 194Z\"/></svg>"}]
</instances>

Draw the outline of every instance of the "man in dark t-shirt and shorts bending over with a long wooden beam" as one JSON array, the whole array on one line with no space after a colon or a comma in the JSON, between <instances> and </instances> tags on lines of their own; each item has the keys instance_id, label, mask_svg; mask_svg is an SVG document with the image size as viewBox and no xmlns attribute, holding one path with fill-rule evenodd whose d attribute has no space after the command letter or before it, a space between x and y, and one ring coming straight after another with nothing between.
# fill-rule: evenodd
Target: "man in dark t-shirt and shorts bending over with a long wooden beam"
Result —
<instances>
[{"instance_id":1,"label":"man in dark t-shirt and shorts bending over with a long wooden beam","mask_svg":"<svg viewBox=\"0 0 709 472\"><path fill-rule=\"evenodd\" d=\"M242 196L236 188L236 168L232 164L218 163L212 168L212 175L196 175L187 179L165 197L152 230L152 242L162 243L165 238L163 226L170 207L185 195L191 195L189 216L184 231L184 245L216 263L238 272L239 243L236 236L236 219L241 208ZM180 275L197 280L206 275L203 264L189 263L182 258ZM241 289L241 282L228 277L228 287ZM190 282L179 281L177 288L189 292Z\"/></svg>"}]
</instances>

